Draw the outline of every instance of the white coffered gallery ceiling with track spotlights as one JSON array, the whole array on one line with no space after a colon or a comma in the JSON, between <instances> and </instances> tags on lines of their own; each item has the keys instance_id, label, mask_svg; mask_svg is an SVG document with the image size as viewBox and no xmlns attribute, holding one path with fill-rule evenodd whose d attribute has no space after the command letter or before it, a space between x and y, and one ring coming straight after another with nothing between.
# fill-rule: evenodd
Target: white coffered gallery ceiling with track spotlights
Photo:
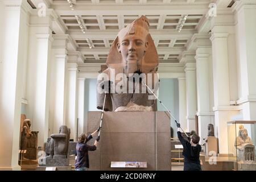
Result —
<instances>
[{"instance_id":1,"label":"white coffered gallery ceiling with track spotlights","mask_svg":"<svg viewBox=\"0 0 256 182\"><path fill-rule=\"evenodd\" d=\"M35 6L39 1L31 0ZM150 22L150 34L160 63L179 63L192 35L203 31L213 0L44 0L70 35L73 49L84 63L105 63L118 31L141 15ZM182 23L184 22L184 23ZM179 32L179 27L182 29ZM84 31L84 32L82 32ZM57 34L58 32L56 32ZM207 33L207 32L206 32Z\"/></svg>"}]
</instances>

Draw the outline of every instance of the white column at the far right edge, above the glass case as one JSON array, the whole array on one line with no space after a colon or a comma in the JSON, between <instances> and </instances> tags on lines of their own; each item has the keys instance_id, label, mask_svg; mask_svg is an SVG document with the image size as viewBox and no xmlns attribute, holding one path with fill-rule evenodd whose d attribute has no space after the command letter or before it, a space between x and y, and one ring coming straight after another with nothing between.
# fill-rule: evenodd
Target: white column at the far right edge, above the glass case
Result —
<instances>
[{"instance_id":1,"label":"white column at the far right edge, above the glass case","mask_svg":"<svg viewBox=\"0 0 256 182\"><path fill-rule=\"evenodd\" d=\"M256 17L255 1L236 1L236 36L238 50L238 80L240 80L240 99L244 120L256 120Z\"/></svg>"}]
</instances>

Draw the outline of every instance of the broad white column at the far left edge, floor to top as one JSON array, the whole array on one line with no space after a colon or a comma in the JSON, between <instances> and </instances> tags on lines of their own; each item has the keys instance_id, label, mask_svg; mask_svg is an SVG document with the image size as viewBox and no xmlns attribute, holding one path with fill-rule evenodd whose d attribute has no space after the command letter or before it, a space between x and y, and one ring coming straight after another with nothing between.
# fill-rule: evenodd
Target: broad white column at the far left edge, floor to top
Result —
<instances>
[{"instance_id":1,"label":"broad white column at the far left edge, floor to top","mask_svg":"<svg viewBox=\"0 0 256 182\"><path fill-rule=\"evenodd\" d=\"M23 64L26 63L26 1L2 1L3 28L0 57L0 170L18 166Z\"/></svg>"}]
</instances>

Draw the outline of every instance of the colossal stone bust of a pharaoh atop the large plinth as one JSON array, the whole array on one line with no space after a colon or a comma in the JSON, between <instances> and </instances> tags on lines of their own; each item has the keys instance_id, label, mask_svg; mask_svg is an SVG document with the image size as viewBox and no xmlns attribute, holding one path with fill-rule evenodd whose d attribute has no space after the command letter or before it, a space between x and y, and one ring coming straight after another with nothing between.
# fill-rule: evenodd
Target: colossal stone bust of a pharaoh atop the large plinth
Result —
<instances>
[{"instance_id":1,"label":"colossal stone bust of a pharaoh atop the large plinth","mask_svg":"<svg viewBox=\"0 0 256 182\"><path fill-rule=\"evenodd\" d=\"M106 65L97 79L97 109L105 111L155 111L158 53L148 33L146 16L119 31ZM152 90L152 92L146 87Z\"/></svg>"}]
</instances>

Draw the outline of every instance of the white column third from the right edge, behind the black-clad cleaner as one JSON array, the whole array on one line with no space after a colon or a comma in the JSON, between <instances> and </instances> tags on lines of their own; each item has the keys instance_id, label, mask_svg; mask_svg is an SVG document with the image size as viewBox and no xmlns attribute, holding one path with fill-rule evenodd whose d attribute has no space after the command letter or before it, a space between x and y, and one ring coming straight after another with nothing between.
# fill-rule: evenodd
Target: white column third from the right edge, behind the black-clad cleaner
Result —
<instances>
[{"instance_id":1,"label":"white column third from the right edge, behind the black-clad cleaner","mask_svg":"<svg viewBox=\"0 0 256 182\"><path fill-rule=\"evenodd\" d=\"M201 139L207 137L207 126L214 125L214 113L210 107L210 48L196 50L196 78L197 78L197 116L199 135Z\"/></svg>"}]
</instances>

